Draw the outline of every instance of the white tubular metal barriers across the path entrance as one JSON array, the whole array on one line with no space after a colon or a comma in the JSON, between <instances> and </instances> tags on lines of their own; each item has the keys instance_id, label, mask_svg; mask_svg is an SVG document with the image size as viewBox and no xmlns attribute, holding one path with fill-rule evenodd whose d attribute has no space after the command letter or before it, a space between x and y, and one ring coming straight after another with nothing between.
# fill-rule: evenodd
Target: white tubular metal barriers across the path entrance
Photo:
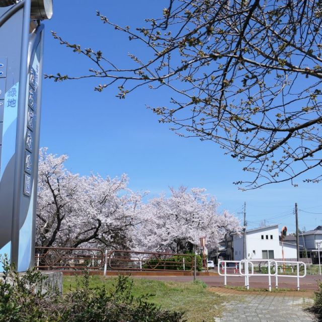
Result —
<instances>
[{"instance_id":1,"label":"white tubular metal barriers across the path entrance","mask_svg":"<svg viewBox=\"0 0 322 322\"><path fill-rule=\"evenodd\" d=\"M254 273L254 262L267 262L267 273ZM236 268L239 266L239 270L237 274L227 274L227 263L234 263ZM288 265L289 263L296 265L296 275L285 275L285 274L278 274L278 267ZM221 265L221 268L220 268ZM303 265L304 273L303 275L299 275L299 268ZM243 269L242 269L243 267ZM229 267L230 268L230 267ZM232 267L233 268L233 267ZM220 271L222 270L222 271ZM273 272L272 272L273 270ZM244 271L244 272L243 272ZM300 289L300 278L306 276L306 265L303 262L289 262L289 261L275 261L275 260L241 260L241 261L219 261L218 262L218 274L224 277L224 285L227 285L227 276L236 277L242 276L245 278L245 287L249 290L250 288L250 277L252 276L267 276L268 277L268 288L269 291L272 291L272 277L275 277L275 287L278 288L278 278L279 277L293 277L297 279L297 290Z\"/></svg>"}]
</instances>

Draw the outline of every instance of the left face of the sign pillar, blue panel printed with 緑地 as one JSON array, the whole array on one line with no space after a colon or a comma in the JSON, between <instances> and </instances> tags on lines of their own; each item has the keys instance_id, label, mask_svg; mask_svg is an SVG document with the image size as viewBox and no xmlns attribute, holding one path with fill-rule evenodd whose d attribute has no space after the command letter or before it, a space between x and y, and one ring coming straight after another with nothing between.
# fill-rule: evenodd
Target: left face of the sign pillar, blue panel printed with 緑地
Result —
<instances>
[{"instance_id":1,"label":"left face of the sign pillar, blue panel printed with \u7dd1\u5730","mask_svg":"<svg viewBox=\"0 0 322 322\"><path fill-rule=\"evenodd\" d=\"M8 8L0 8L0 15L5 15ZM18 93L20 77L20 58L22 46L24 10L20 9L0 28L0 57L1 64L7 64L5 85L5 99L1 100L3 116L0 160L0 255L7 254L12 258L12 222L14 202L15 153L18 119ZM4 45L3 45L4 44ZM1 269L1 268L0 268Z\"/></svg>"}]
</instances>

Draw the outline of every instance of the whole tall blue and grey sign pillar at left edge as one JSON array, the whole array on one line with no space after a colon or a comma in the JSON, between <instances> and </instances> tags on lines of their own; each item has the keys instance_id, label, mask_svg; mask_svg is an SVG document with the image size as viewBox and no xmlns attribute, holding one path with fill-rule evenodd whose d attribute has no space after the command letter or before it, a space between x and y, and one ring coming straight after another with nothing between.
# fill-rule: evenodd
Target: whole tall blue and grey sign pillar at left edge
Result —
<instances>
[{"instance_id":1,"label":"whole tall blue and grey sign pillar at left edge","mask_svg":"<svg viewBox=\"0 0 322 322\"><path fill-rule=\"evenodd\" d=\"M34 264L44 26L52 0L0 0L0 256ZM0 271L2 267L0 267Z\"/></svg>"}]
</instances>

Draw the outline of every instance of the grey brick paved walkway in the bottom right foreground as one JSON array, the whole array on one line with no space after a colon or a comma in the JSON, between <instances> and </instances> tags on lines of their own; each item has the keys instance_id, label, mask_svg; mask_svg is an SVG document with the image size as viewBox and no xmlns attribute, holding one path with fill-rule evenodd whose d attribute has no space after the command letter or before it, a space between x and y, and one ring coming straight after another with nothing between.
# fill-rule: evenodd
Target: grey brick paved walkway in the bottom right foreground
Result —
<instances>
[{"instance_id":1,"label":"grey brick paved walkway in the bottom right foreground","mask_svg":"<svg viewBox=\"0 0 322 322\"><path fill-rule=\"evenodd\" d=\"M312 302L311 298L281 294L234 294L215 322L315 322L314 315L305 310Z\"/></svg>"}]
</instances>

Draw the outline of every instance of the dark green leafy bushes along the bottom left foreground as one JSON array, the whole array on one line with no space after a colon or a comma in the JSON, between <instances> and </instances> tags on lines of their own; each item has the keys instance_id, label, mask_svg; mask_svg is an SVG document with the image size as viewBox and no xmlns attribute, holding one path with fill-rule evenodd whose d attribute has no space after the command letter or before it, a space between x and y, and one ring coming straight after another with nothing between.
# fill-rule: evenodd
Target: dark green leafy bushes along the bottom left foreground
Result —
<instances>
[{"instance_id":1,"label":"dark green leafy bushes along the bottom left foreground","mask_svg":"<svg viewBox=\"0 0 322 322\"><path fill-rule=\"evenodd\" d=\"M0 281L0 322L184 322L183 312L162 309L152 294L134 297L133 280L119 276L112 290L89 287L89 274L67 295L42 289L39 271L18 274L7 259Z\"/></svg>"}]
</instances>

